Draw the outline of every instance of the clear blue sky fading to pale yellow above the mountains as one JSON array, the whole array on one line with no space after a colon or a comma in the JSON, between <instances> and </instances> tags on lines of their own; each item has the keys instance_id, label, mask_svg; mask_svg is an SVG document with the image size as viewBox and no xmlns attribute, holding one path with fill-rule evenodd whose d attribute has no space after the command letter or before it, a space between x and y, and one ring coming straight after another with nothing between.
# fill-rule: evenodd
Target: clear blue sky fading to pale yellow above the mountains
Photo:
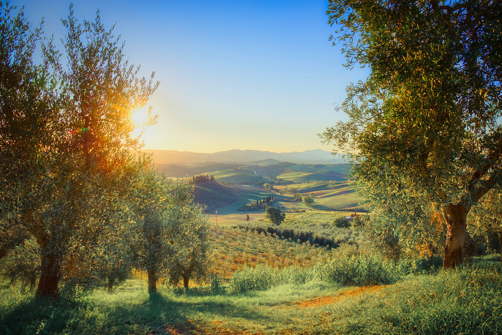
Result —
<instances>
[{"instance_id":1,"label":"clear blue sky fading to pale yellow above the mountains","mask_svg":"<svg viewBox=\"0 0 502 335\"><path fill-rule=\"evenodd\" d=\"M70 2L11 1L25 6L46 35L64 36ZM326 0L75 1L79 19L115 23L124 53L161 82L150 100L158 123L145 149L217 152L331 150L317 133L345 119L333 104L365 77L342 66Z\"/></svg>"}]
</instances>

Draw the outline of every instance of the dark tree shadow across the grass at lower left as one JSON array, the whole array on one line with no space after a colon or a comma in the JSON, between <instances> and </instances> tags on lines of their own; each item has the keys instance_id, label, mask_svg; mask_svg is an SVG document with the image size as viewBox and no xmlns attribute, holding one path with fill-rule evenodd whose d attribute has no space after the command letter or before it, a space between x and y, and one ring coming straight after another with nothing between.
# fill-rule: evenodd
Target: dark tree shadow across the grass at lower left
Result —
<instances>
[{"instance_id":1,"label":"dark tree shadow across the grass at lower left","mask_svg":"<svg viewBox=\"0 0 502 335\"><path fill-rule=\"evenodd\" d=\"M207 315L208 319L269 318L268 315L248 310L232 303L230 299L218 298L211 293L188 291L184 294L193 297L195 301L198 300L197 297L215 296L215 299L202 299L205 301L192 303L154 293L149 297L145 296L138 303L106 304L93 300L92 296L73 300L41 300L31 296L18 302L16 306L0 310L0 333L148 333L170 325L183 325L187 329L196 327L192 318L201 314Z\"/></svg>"}]
</instances>

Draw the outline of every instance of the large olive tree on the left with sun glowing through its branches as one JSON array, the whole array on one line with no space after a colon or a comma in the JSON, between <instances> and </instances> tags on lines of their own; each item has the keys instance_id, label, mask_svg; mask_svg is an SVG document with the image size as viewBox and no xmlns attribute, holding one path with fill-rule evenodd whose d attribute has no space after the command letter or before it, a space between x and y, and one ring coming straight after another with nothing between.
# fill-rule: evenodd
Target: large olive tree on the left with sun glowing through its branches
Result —
<instances>
[{"instance_id":1,"label":"large olive tree on the left with sun glowing through its branches","mask_svg":"<svg viewBox=\"0 0 502 335\"><path fill-rule=\"evenodd\" d=\"M34 65L42 32L13 10L0 6L0 222L3 236L36 238L37 295L57 297L62 264L99 240L128 194L137 167L129 149L141 147L132 113L157 84L138 78L99 14L78 24L71 7L63 52L46 40Z\"/></svg>"}]
</instances>

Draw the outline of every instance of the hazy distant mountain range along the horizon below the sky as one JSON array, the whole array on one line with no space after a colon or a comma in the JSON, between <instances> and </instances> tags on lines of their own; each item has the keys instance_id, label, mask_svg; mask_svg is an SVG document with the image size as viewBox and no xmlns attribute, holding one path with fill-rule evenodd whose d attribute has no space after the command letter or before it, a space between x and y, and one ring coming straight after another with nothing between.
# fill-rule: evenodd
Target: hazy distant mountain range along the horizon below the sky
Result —
<instances>
[{"instance_id":1,"label":"hazy distant mountain range along the horizon below the sky","mask_svg":"<svg viewBox=\"0 0 502 335\"><path fill-rule=\"evenodd\" d=\"M219 151L212 154L197 153L190 151L176 150L141 150L142 152L152 153L156 164L169 163L249 163L264 160L276 160L281 162L294 163L323 163L337 164L344 163L343 158L331 155L329 151L321 149L305 150L303 152L270 152L260 150L228 150ZM270 164L274 164L273 161ZM259 165L259 164L256 164Z\"/></svg>"}]
</instances>

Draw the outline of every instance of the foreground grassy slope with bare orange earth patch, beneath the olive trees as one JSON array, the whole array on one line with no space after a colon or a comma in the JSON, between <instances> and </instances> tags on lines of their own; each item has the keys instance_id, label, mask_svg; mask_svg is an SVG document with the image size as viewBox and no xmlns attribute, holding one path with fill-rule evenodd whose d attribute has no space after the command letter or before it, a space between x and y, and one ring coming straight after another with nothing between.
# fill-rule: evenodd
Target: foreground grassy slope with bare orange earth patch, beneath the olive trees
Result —
<instances>
[{"instance_id":1,"label":"foreground grassy slope with bare orange earth patch, beneath the olive trees","mask_svg":"<svg viewBox=\"0 0 502 335\"><path fill-rule=\"evenodd\" d=\"M112 294L97 290L75 302L42 306L33 293L4 283L0 329L62 335L500 334L500 266L475 267L410 275L385 287L313 281L239 294L161 288L149 296L143 277Z\"/></svg>"}]
</instances>

